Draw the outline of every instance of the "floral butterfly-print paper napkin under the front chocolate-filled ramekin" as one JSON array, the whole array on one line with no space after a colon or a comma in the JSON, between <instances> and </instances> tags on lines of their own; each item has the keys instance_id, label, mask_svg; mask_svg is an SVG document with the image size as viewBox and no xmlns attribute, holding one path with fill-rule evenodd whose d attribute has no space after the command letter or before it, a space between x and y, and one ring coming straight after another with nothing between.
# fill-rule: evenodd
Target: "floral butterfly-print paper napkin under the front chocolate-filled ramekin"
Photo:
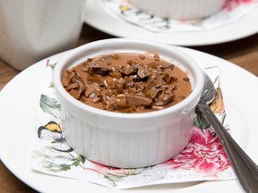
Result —
<instances>
[{"instance_id":1,"label":"floral butterfly-print paper napkin under the front chocolate-filled ramekin","mask_svg":"<svg viewBox=\"0 0 258 193\"><path fill-rule=\"evenodd\" d=\"M196 110L193 136L187 147L163 164L144 168L114 168L78 155L66 143L62 132L60 104L56 99L52 73L56 61L46 60L46 81L39 101L38 125L31 155L31 167L50 175L86 180L115 189L197 180L229 180L235 174L210 122ZM217 96L211 109L229 131L219 84L219 69L205 69L214 82ZM169 144L168 144L169 146Z\"/></svg>"}]
</instances>

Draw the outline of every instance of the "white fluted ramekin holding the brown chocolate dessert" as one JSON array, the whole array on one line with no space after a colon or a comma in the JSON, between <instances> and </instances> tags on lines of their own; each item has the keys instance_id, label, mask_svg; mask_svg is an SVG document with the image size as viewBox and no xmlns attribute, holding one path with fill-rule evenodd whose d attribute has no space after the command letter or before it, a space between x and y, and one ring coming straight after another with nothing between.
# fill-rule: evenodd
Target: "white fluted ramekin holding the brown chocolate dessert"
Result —
<instances>
[{"instance_id":1,"label":"white fluted ramekin holding the brown chocolate dessert","mask_svg":"<svg viewBox=\"0 0 258 193\"><path fill-rule=\"evenodd\" d=\"M183 102L151 113L114 113L100 110L70 96L62 86L67 68L89 57L114 52L159 53L190 77L193 92ZM191 57L173 46L128 38L100 40L77 47L54 71L56 96L61 104L62 126L68 144L87 159L114 167L134 168L167 161L188 144L193 111L203 88L203 72Z\"/></svg>"}]
</instances>

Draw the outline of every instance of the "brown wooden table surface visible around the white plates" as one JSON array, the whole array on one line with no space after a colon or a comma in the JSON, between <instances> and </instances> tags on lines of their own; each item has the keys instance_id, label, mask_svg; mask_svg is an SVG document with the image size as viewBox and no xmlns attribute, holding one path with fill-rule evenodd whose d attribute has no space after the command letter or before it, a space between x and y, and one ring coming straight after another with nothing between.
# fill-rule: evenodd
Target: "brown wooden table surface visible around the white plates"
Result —
<instances>
[{"instance_id":1,"label":"brown wooden table surface visible around the white plates","mask_svg":"<svg viewBox=\"0 0 258 193\"><path fill-rule=\"evenodd\" d=\"M82 34L77 46L104 38L114 38L88 25L82 28ZM239 39L229 43L212 46L194 46L193 49L200 50L211 55L219 56L229 62L236 63L245 70L258 76L258 34L248 38ZM8 81L12 80L20 71L16 71L8 63L0 59L0 90ZM47 184L46 184L47 185ZM12 172L0 161L0 192L36 192L30 189L21 180L17 179Z\"/></svg>"}]
</instances>

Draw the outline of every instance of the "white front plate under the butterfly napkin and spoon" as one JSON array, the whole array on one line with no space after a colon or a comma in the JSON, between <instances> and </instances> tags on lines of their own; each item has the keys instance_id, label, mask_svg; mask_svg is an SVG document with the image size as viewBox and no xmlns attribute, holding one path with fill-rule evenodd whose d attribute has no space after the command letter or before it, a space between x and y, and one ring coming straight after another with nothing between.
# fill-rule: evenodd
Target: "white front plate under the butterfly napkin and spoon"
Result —
<instances>
[{"instance_id":1,"label":"white front plate under the butterfly napkin and spoon","mask_svg":"<svg viewBox=\"0 0 258 193\"><path fill-rule=\"evenodd\" d=\"M232 136L246 153L258 163L258 79L251 73L218 57L187 48L180 48L203 67L218 65L222 89L228 110ZM50 59L57 61L63 54ZM236 180L192 182L150 186L140 189L108 189L82 180L71 180L34 172L30 169L30 155L36 131L39 94L44 77L46 60L22 71L0 92L0 155L6 167L19 179L39 192L72 192L87 189L89 192L219 192L231 189L242 192Z\"/></svg>"}]
</instances>

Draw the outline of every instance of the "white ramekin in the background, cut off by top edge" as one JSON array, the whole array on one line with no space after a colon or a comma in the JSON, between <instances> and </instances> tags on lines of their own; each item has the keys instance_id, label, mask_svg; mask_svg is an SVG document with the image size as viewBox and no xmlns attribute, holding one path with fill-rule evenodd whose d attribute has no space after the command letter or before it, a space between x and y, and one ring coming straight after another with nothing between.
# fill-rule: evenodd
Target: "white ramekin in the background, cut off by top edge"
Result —
<instances>
[{"instance_id":1,"label":"white ramekin in the background, cut off by top edge","mask_svg":"<svg viewBox=\"0 0 258 193\"><path fill-rule=\"evenodd\" d=\"M143 12L176 20L193 20L219 12L226 0L129 0Z\"/></svg>"}]
</instances>

